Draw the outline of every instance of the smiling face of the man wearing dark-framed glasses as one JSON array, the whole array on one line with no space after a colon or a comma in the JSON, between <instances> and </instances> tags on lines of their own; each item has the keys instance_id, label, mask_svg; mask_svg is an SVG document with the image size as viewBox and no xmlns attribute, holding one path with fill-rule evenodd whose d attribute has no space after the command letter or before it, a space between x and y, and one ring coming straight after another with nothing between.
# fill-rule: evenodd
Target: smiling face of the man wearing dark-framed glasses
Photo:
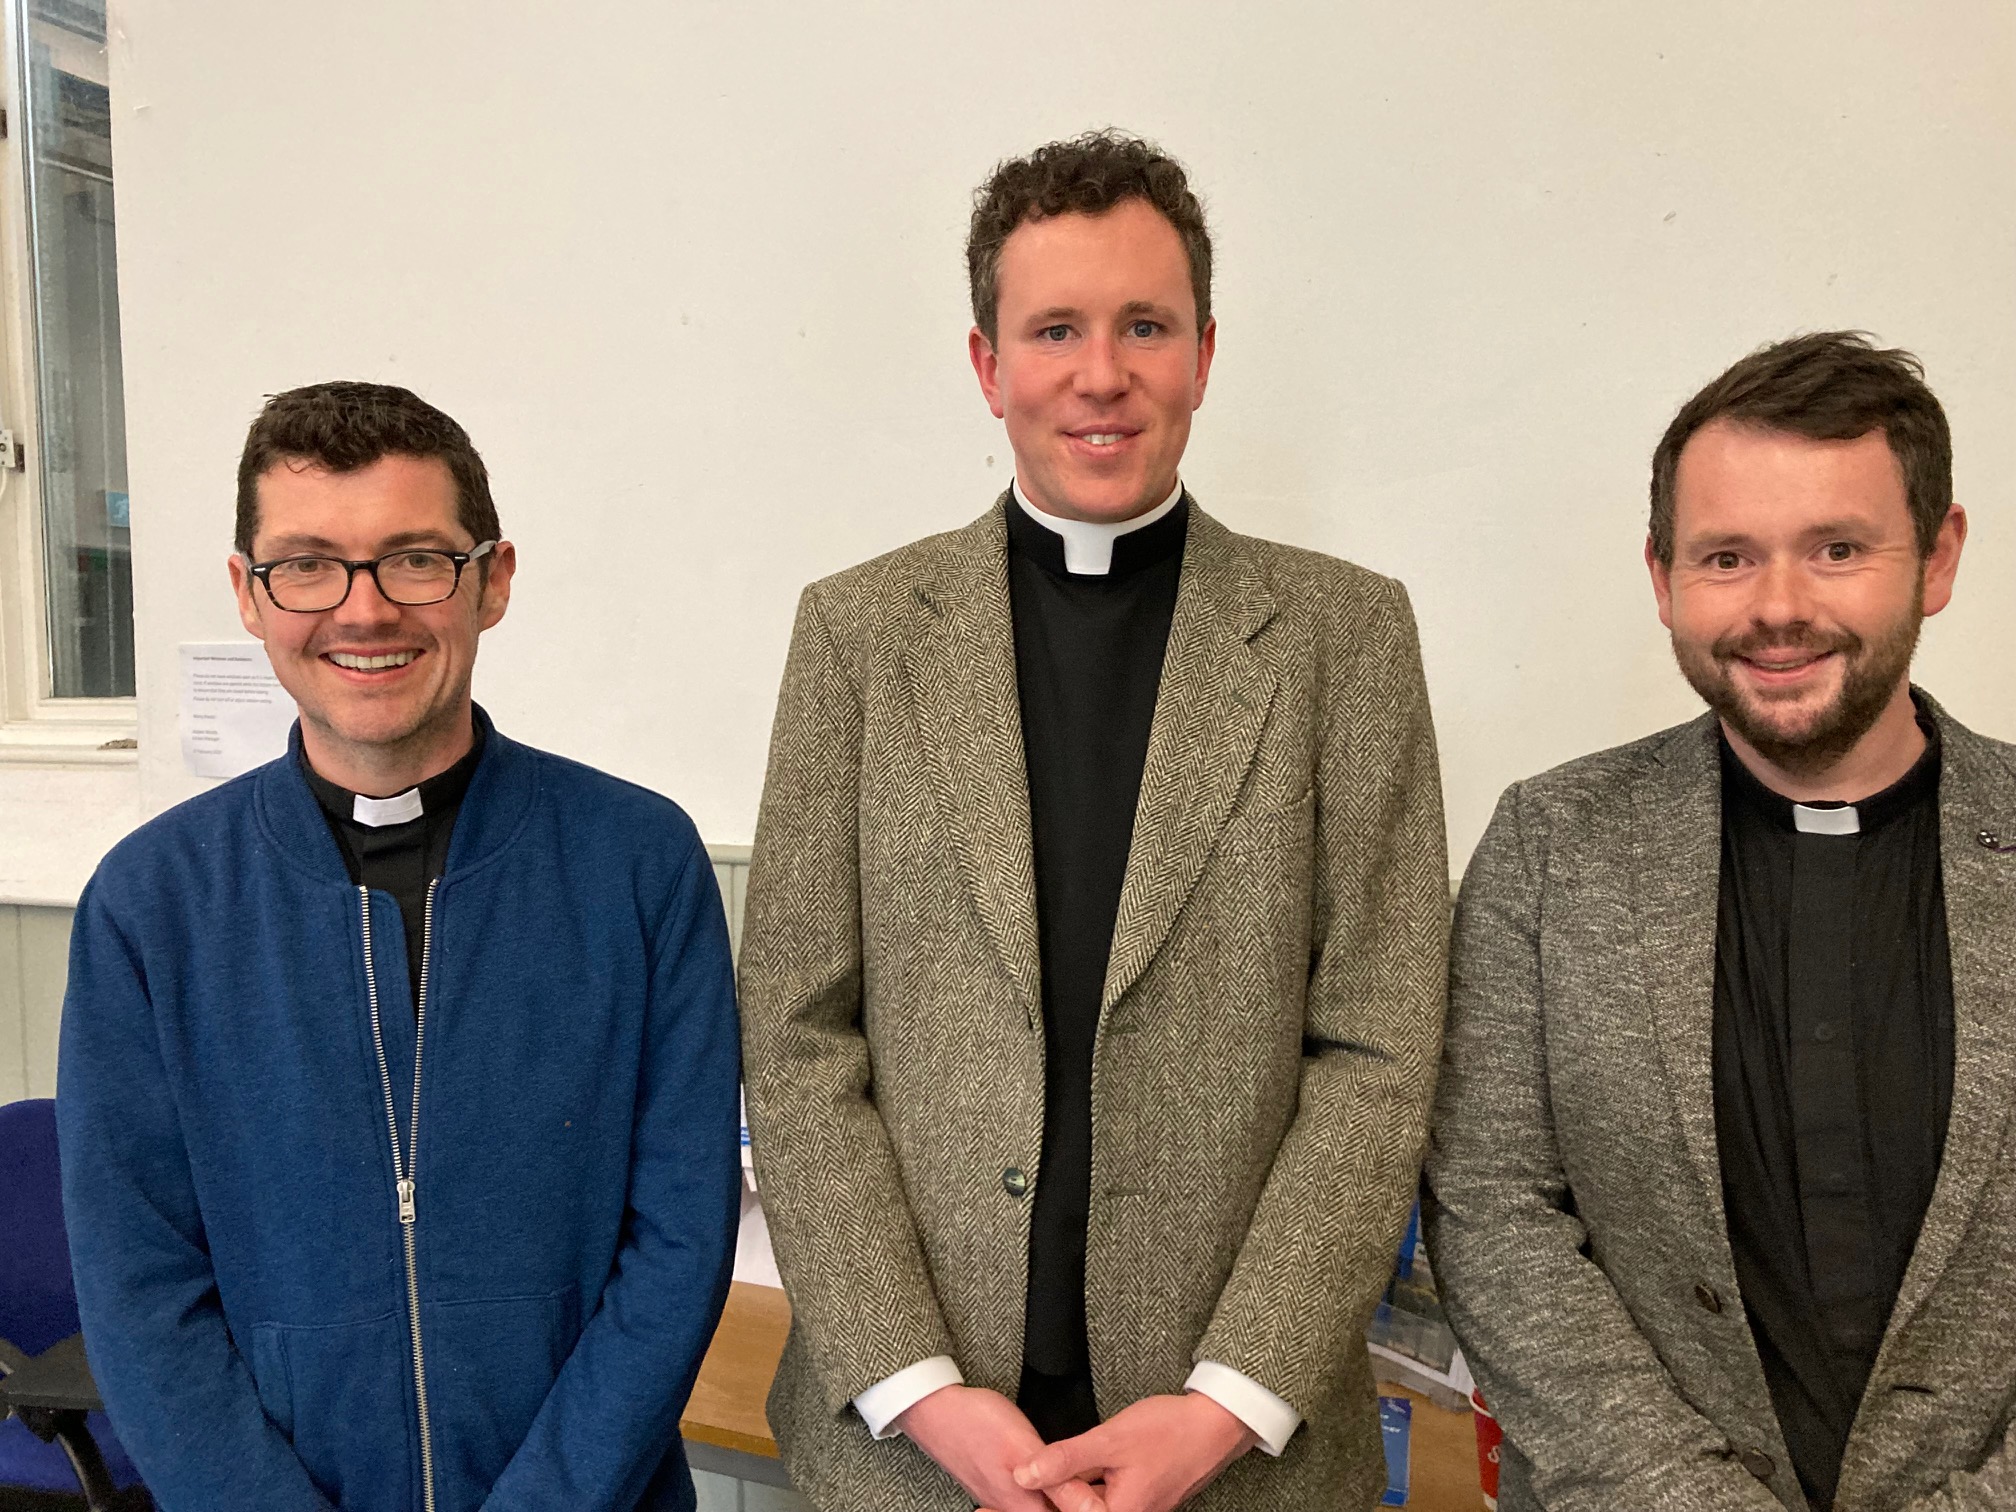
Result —
<instances>
[{"instance_id":1,"label":"smiling face of the man wearing dark-framed glasses","mask_svg":"<svg viewBox=\"0 0 2016 1512\"><path fill-rule=\"evenodd\" d=\"M258 480L258 562L476 544L458 524L456 484L435 458L393 454L355 472L282 462ZM353 792L387 794L468 752L476 637L510 603L510 542L488 560L488 575L472 564L442 603L389 603L359 573L341 605L302 615L276 607L244 558L232 556L238 617L266 643L274 677L300 706L300 738L317 772Z\"/></svg>"}]
</instances>

